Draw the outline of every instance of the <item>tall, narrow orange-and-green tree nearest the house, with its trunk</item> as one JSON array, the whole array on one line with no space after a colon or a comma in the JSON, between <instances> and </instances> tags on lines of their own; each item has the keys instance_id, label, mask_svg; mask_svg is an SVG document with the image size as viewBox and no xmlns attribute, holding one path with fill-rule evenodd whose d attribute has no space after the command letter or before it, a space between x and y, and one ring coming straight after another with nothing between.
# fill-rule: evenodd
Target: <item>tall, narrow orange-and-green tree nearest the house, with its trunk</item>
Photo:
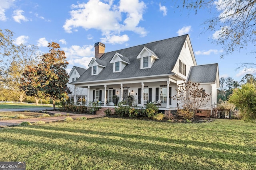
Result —
<instances>
[{"instance_id":1,"label":"tall, narrow orange-and-green tree nearest the house, with its trunk","mask_svg":"<svg viewBox=\"0 0 256 170\"><path fill-rule=\"evenodd\" d=\"M50 51L42 55L42 60L38 64L37 74L40 78L40 90L45 96L52 98L53 109L55 101L67 94L68 74L66 67L65 52L60 50L58 43L49 43Z\"/></svg>"}]
</instances>

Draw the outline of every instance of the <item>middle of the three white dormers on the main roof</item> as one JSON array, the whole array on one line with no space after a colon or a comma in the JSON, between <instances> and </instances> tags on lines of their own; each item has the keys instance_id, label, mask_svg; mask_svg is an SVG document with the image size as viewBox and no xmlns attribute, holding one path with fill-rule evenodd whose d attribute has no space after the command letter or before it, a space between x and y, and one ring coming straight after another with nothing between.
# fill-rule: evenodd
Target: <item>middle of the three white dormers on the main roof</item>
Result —
<instances>
[{"instance_id":1,"label":"middle of the three white dormers on the main roof","mask_svg":"<svg viewBox=\"0 0 256 170\"><path fill-rule=\"evenodd\" d=\"M119 53L115 53L110 63L113 63L113 72L121 72L127 64L130 64L130 60Z\"/></svg>"}]
</instances>

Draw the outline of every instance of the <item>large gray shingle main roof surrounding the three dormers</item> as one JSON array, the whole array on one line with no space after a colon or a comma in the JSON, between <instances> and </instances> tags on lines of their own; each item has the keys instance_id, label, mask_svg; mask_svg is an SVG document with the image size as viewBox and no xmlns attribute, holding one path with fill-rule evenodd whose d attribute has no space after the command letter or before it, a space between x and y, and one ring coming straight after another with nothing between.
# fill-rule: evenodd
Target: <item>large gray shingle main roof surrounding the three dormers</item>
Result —
<instances>
[{"instance_id":1,"label":"large gray shingle main roof surrounding the three dormers","mask_svg":"<svg viewBox=\"0 0 256 170\"><path fill-rule=\"evenodd\" d=\"M106 63L106 68L104 68L104 70L102 70L98 75L91 75L92 67L88 68L88 70L86 70L84 74L80 76L78 80L76 80L75 84L78 84L80 82L86 83L97 80L111 80L119 78L173 74L172 70L176 64L176 61L178 60L178 57L187 37L188 35L186 34L178 37L104 53L102 57L100 57L100 59L96 60L96 62L98 63L98 61L103 61L104 63ZM144 47L147 47L151 51L154 51L154 54L156 54L159 59L154 62L151 68L140 69L140 59L136 59L136 57ZM110 63L110 61L115 53L126 56L130 61L130 64L127 64L122 72L113 72L113 63Z\"/></svg>"}]
</instances>

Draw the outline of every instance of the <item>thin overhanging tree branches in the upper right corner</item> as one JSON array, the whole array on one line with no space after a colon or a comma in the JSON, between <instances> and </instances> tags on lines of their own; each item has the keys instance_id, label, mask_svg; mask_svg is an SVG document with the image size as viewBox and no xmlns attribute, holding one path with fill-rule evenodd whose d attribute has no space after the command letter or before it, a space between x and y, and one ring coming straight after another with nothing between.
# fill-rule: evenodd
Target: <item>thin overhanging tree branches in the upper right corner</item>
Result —
<instances>
[{"instance_id":1,"label":"thin overhanging tree branches in the upper right corner","mask_svg":"<svg viewBox=\"0 0 256 170\"><path fill-rule=\"evenodd\" d=\"M222 45L226 54L242 49L248 43L255 45L255 0L184 0L183 8L192 9L196 14L200 8L218 11L216 16L205 21L205 29L216 31L214 42Z\"/></svg>"}]
</instances>

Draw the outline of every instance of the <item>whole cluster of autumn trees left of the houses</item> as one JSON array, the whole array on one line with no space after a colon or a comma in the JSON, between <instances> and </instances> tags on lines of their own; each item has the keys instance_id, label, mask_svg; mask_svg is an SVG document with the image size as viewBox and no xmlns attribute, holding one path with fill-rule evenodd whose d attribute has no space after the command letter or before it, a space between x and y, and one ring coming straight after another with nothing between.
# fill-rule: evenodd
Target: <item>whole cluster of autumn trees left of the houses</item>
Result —
<instances>
[{"instance_id":1,"label":"whole cluster of autumn trees left of the houses","mask_svg":"<svg viewBox=\"0 0 256 170\"><path fill-rule=\"evenodd\" d=\"M12 37L12 31L0 29L0 100L22 103L33 97L36 104L52 101L55 109L56 100L66 98L68 91L64 51L52 42L49 53L38 53L37 46L16 45Z\"/></svg>"}]
</instances>

